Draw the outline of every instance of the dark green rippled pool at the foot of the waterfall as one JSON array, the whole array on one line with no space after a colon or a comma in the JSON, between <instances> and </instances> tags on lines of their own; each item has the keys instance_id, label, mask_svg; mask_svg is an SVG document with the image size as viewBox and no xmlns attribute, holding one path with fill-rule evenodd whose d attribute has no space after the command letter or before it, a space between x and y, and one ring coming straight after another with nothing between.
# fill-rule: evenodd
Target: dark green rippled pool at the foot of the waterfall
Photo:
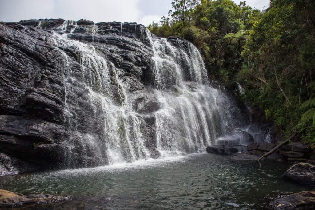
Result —
<instances>
[{"instance_id":1,"label":"dark green rippled pool at the foot of the waterfall","mask_svg":"<svg viewBox=\"0 0 315 210\"><path fill-rule=\"evenodd\" d=\"M0 177L16 193L73 195L71 201L20 209L270 209L286 192L310 190L281 179L284 162L232 161L198 153L95 168Z\"/></svg>"}]
</instances>

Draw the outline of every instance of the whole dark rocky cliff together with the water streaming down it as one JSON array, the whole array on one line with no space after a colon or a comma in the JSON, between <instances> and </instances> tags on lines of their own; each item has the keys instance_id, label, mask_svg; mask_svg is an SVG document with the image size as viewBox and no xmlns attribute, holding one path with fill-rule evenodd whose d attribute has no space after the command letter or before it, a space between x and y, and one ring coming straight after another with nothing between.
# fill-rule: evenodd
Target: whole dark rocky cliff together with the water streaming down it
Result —
<instances>
[{"instance_id":1,"label":"whole dark rocky cliff together with the water streaming down it","mask_svg":"<svg viewBox=\"0 0 315 210\"><path fill-rule=\"evenodd\" d=\"M1 22L0 90L0 175L196 152L242 117L191 43L136 23Z\"/></svg>"}]
</instances>

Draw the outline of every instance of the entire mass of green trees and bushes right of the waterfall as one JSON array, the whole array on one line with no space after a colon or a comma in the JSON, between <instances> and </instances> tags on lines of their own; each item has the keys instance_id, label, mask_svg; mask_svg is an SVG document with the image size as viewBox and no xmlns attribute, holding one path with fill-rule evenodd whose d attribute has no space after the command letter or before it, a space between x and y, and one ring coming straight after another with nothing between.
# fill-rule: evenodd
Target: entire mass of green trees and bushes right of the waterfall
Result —
<instances>
[{"instance_id":1,"label":"entire mass of green trees and bushes right of the waterfall","mask_svg":"<svg viewBox=\"0 0 315 210\"><path fill-rule=\"evenodd\" d=\"M175 0L149 29L179 36L203 55L209 77L238 81L242 97L283 133L315 144L315 1L271 0L252 9L231 0Z\"/></svg>"}]
</instances>

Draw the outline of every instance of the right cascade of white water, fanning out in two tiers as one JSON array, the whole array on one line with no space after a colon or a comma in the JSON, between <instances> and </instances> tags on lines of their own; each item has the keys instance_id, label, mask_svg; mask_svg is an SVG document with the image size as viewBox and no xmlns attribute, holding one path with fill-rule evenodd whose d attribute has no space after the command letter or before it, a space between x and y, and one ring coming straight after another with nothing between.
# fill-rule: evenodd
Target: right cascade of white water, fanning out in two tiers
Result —
<instances>
[{"instance_id":1,"label":"right cascade of white water, fanning out in two tiers","mask_svg":"<svg viewBox=\"0 0 315 210\"><path fill-rule=\"evenodd\" d=\"M165 38L153 41L149 37L154 51L156 95L163 104L154 114L157 149L192 153L213 144L218 136L231 133L237 125L232 111L236 106L220 91L207 86L198 49L188 42L187 54ZM163 91L166 89L174 92Z\"/></svg>"}]
</instances>

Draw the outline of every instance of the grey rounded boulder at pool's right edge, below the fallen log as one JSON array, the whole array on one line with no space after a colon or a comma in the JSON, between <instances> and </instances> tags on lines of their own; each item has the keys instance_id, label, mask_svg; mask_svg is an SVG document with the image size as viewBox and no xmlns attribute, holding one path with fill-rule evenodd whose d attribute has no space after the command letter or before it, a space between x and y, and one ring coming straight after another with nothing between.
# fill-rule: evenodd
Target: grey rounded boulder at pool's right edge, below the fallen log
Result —
<instances>
[{"instance_id":1,"label":"grey rounded boulder at pool's right edge, below the fallen log","mask_svg":"<svg viewBox=\"0 0 315 210\"><path fill-rule=\"evenodd\" d=\"M283 178L301 184L315 185L315 166L300 162L290 167L284 173Z\"/></svg>"}]
</instances>

